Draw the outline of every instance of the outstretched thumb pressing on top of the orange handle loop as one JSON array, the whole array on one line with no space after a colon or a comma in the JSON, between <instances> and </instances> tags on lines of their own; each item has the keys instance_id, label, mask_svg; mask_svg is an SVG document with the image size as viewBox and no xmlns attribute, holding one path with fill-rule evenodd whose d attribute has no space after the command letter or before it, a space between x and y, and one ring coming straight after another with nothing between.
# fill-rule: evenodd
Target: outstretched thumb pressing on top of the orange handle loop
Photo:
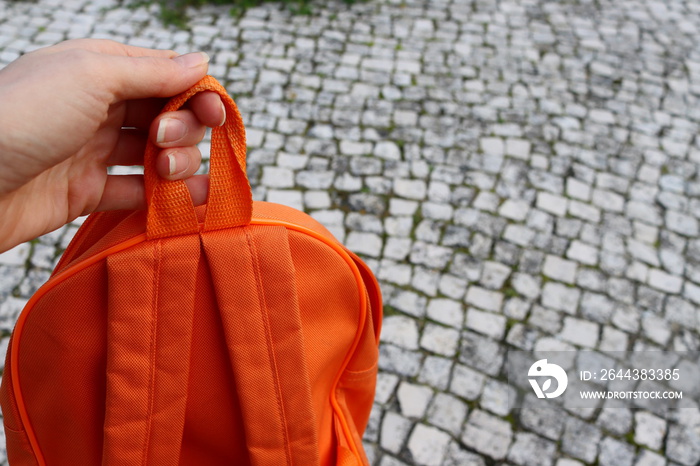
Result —
<instances>
[{"instance_id":1,"label":"outstretched thumb pressing on top of the orange handle loop","mask_svg":"<svg viewBox=\"0 0 700 466\"><path fill-rule=\"evenodd\" d=\"M116 100L172 97L207 74L209 55L193 52L174 58L103 55L103 82Z\"/></svg>"}]
</instances>

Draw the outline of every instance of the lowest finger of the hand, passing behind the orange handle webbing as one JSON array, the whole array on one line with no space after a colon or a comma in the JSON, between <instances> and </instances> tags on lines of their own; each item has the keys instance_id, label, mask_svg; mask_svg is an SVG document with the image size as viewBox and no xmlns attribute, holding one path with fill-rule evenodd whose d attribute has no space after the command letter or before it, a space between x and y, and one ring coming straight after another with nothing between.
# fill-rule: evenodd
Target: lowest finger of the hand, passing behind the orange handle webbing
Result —
<instances>
[{"instance_id":1,"label":"lowest finger of the hand, passing behind the orange handle webbing","mask_svg":"<svg viewBox=\"0 0 700 466\"><path fill-rule=\"evenodd\" d=\"M209 175L196 175L185 180L190 191L192 203L202 205L207 200ZM102 199L95 209L105 210L142 210L146 208L146 193L143 175L109 175L102 192Z\"/></svg>"}]
</instances>

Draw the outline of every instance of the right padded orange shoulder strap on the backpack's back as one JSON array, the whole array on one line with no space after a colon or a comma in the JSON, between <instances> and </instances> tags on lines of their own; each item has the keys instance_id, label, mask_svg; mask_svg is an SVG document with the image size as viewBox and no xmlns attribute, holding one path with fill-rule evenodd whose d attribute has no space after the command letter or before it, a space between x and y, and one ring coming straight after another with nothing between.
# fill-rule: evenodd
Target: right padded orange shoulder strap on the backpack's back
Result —
<instances>
[{"instance_id":1,"label":"right padded orange shoulder strap on the backpack's back","mask_svg":"<svg viewBox=\"0 0 700 466\"><path fill-rule=\"evenodd\" d=\"M250 463L318 465L316 419L287 230L240 227L204 232L202 240Z\"/></svg>"}]
</instances>

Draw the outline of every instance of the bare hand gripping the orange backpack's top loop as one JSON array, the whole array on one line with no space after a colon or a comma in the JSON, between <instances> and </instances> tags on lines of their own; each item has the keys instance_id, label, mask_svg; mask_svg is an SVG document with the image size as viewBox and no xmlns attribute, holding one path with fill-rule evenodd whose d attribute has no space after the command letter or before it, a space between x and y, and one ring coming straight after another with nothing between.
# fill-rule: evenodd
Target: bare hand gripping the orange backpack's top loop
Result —
<instances>
[{"instance_id":1,"label":"bare hand gripping the orange backpack's top loop","mask_svg":"<svg viewBox=\"0 0 700 466\"><path fill-rule=\"evenodd\" d=\"M226 116L216 93L158 115L165 98L203 78L208 57L81 39L26 54L0 71L0 252L98 210L145 207L146 139L162 148L164 178L187 179L195 203L206 180L192 177L206 126Z\"/></svg>"}]
</instances>

